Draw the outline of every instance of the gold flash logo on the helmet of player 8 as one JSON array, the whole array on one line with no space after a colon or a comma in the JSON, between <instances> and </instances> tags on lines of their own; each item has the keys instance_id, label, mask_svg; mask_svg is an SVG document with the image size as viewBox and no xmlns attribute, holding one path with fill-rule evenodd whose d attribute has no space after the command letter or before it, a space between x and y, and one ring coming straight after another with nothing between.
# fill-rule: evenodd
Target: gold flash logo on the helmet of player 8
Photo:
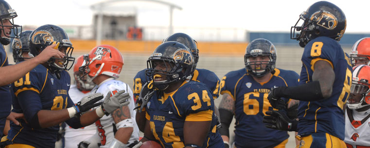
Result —
<instances>
[{"instance_id":1,"label":"gold flash logo on the helmet of player 8","mask_svg":"<svg viewBox=\"0 0 370 148\"><path fill-rule=\"evenodd\" d=\"M310 17L310 19L317 22L317 25L329 30L335 29L338 24L336 17L327 11L317 11Z\"/></svg>"}]
</instances>

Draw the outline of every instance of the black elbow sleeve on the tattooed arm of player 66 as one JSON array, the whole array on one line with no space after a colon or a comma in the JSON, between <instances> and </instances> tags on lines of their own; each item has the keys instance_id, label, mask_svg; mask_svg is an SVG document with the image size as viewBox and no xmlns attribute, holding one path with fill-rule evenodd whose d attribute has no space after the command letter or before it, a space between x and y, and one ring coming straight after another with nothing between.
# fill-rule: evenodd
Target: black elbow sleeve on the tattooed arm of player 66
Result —
<instances>
[{"instance_id":1,"label":"black elbow sleeve on the tattooed arm of player 66","mask_svg":"<svg viewBox=\"0 0 370 148\"><path fill-rule=\"evenodd\" d=\"M230 123L232 121L232 117L234 114L230 112L229 110L219 108L218 111L220 112L220 122L221 122L221 128L218 129L221 135L226 135L229 137L229 127Z\"/></svg>"}]
</instances>

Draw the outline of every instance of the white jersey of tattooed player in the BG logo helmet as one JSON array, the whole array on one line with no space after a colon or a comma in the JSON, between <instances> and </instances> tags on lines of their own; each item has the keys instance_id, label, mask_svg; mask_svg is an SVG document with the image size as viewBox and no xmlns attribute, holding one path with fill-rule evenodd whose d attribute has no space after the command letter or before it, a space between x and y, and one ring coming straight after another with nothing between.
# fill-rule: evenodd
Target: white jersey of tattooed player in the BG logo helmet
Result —
<instances>
[{"instance_id":1,"label":"white jersey of tattooed player in the BG logo helmet","mask_svg":"<svg viewBox=\"0 0 370 148\"><path fill-rule=\"evenodd\" d=\"M102 82L99 86L95 86L92 89L91 93L102 93L104 96L106 96L108 92L112 93L113 91L120 91L120 90L126 90L126 93L130 94L130 99L129 99L130 103L128 104L128 108L130 110L131 119L134 124L134 131L132 132L131 137L128 140L128 143L133 143L135 140L139 141L139 128L135 120L135 115L136 115L136 111L134 111L135 101L134 101L133 93L130 87L124 82L110 78ZM103 102L103 101L104 99L99 100L99 102ZM102 118L100 118L100 120L96 121L96 126L98 127L99 136L101 138L100 148L107 148L110 142L113 140L114 138L113 125L115 126L112 115L108 115L108 116L104 115Z\"/></svg>"}]
</instances>

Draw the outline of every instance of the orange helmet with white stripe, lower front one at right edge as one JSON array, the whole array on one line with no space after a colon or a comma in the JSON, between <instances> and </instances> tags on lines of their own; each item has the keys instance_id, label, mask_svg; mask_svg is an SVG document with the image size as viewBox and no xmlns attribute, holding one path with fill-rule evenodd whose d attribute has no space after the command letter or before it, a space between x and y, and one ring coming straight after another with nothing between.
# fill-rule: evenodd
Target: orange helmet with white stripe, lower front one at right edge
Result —
<instances>
[{"instance_id":1,"label":"orange helmet with white stripe, lower front one at right edge","mask_svg":"<svg viewBox=\"0 0 370 148\"><path fill-rule=\"evenodd\" d=\"M370 66L353 67L351 93L347 99L350 109L359 109L370 105Z\"/></svg>"}]
</instances>

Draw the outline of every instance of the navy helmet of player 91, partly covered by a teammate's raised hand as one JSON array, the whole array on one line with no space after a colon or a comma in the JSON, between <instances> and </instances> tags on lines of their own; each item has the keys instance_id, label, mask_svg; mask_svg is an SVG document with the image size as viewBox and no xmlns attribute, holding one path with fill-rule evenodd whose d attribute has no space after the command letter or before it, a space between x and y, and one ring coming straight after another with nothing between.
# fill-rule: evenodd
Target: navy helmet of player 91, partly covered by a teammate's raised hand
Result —
<instances>
[{"instance_id":1,"label":"navy helmet of player 91, partly covered by a teammate's raised hand","mask_svg":"<svg viewBox=\"0 0 370 148\"><path fill-rule=\"evenodd\" d=\"M50 58L48 63L48 68L52 73L59 73L63 70L70 70L74 63L74 58L72 57L72 43L70 43L70 38L67 33L60 27L55 25L43 25L35 29L30 34L30 52L33 56L37 56L44 50L47 46L59 43L57 47L60 51L66 52L64 58ZM63 66L58 66L55 60L64 60Z\"/></svg>"}]
</instances>

